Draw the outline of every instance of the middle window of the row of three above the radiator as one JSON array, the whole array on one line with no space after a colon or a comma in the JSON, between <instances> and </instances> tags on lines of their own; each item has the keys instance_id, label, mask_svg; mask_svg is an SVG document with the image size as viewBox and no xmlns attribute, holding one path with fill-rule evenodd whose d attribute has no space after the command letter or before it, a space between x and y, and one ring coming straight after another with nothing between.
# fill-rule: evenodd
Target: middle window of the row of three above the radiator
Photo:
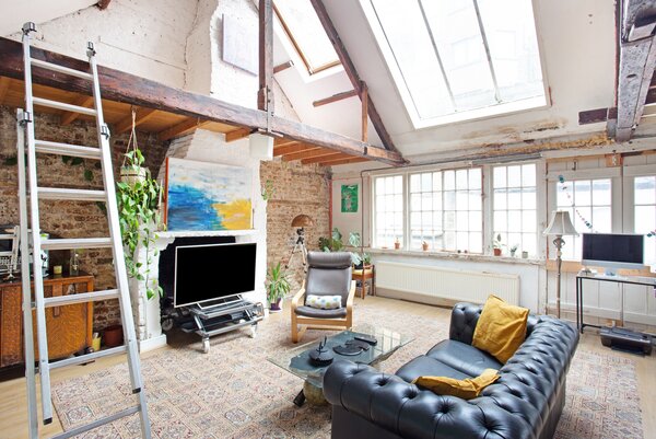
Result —
<instances>
[{"instance_id":1,"label":"middle window of the row of three above the radiator","mask_svg":"<svg viewBox=\"0 0 656 439\"><path fill-rule=\"evenodd\" d=\"M481 169L410 175L410 249L483 252Z\"/></svg>"}]
</instances>

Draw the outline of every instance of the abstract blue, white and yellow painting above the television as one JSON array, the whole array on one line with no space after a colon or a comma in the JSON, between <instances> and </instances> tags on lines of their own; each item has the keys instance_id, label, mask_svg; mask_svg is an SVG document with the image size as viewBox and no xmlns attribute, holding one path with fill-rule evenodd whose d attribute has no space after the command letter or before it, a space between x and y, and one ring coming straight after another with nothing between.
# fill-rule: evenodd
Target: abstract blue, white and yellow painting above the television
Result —
<instances>
[{"instance_id":1,"label":"abstract blue, white and yellow painting above the television","mask_svg":"<svg viewBox=\"0 0 656 439\"><path fill-rule=\"evenodd\" d=\"M253 228L250 170L174 158L166 165L168 230Z\"/></svg>"}]
</instances>

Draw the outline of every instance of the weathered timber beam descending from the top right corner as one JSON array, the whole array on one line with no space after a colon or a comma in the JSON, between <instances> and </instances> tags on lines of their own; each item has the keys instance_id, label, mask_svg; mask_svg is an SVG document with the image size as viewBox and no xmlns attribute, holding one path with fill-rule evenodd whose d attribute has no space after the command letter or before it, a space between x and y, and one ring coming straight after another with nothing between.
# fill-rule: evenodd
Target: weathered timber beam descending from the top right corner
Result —
<instances>
[{"instance_id":1,"label":"weathered timber beam descending from the top right corner","mask_svg":"<svg viewBox=\"0 0 656 439\"><path fill-rule=\"evenodd\" d=\"M618 74L618 118L614 138L631 138L642 117L656 68L656 0L623 0L621 8L620 67Z\"/></svg>"}]
</instances>

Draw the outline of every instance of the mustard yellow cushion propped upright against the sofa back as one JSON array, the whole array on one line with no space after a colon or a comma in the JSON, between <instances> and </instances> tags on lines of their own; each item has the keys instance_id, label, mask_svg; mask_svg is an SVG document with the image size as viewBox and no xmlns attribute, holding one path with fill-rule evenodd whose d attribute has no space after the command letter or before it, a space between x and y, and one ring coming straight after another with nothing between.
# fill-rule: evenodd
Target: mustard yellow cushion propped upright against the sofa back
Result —
<instances>
[{"instance_id":1,"label":"mustard yellow cushion propped upright against the sofa back","mask_svg":"<svg viewBox=\"0 0 656 439\"><path fill-rule=\"evenodd\" d=\"M490 294L473 332L471 346L505 363L526 339L528 310Z\"/></svg>"}]
</instances>

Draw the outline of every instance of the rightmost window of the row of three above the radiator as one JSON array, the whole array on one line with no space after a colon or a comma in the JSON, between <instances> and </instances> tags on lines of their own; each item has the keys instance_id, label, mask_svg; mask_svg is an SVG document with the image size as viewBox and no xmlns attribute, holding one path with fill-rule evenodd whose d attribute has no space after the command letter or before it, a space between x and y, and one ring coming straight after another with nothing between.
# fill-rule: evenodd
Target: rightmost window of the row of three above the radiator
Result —
<instances>
[{"instance_id":1,"label":"rightmost window of the row of three above the radiator","mask_svg":"<svg viewBox=\"0 0 656 439\"><path fill-rule=\"evenodd\" d=\"M537 255L537 200L535 163L495 166L493 184L493 234L500 235L503 253Z\"/></svg>"}]
</instances>

